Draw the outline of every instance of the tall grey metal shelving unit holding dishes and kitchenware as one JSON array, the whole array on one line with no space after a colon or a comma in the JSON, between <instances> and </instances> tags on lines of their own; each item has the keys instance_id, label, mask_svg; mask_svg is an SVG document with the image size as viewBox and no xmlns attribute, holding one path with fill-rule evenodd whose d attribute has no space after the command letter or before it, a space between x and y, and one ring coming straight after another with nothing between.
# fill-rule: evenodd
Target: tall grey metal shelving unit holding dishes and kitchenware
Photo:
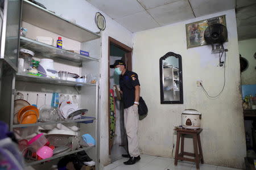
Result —
<instances>
[{"instance_id":1,"label":"tall grey metal shelving unit holding dishes and kitchenware","mask_svg":"<svg viewBox=\"0 0 256 170\"><path fill-rule=\"evenodd\" d=\"M57 35L67 37L68 39L80 41L81 44L86 44L86 48L91 50L92 52L96 52L94 57L100 58L98 56L99 50L101 50L100 43L94 44L94 42L100 42L101 36L97 33L89 31L86 28L77 25L76 23L72 23L67 19L61 18L60 16L56 15L55 13L46 10L34 3L23 0L22 5L22 20L24 22L30 23L35 25L36 27L46 29L47 31L56 33ZM96 40L98 39L98 40ZM91 41L94 40L94 41ZM44 44L42 42L38 42L32 39L28 39L27 37L20 37L20 48L26 48L35 52L36 57L39 58L51 58L56 62L64 63L68 66L78 66L82 75L96 73L100 70L100 59L94 57L86 57L82 56L77 53L72 53L64 49L56 48L55 46L51 46L48 44ZM63 66L65 67L65 65ZM62 69L62 68L61 68ZM63 68L64 69L64 68ZM77 68L76 68L77 69ZM10 122L10 129L13 130L14 128L25 129L25 128L32 128L33 126L43 126L43 125L56 125L56 124L73 124L76 123L80 129L79 134L90 133L96 139L96 146L93 147L85 147L79 148L75 151L70 151L65 154L61 155L53 155L51 158L43 159L43 160L29 160L26 165L35 165L43 162L47 162L52 159L60 158L65 155L75 154L80 151L86 151L88 154L92 154L94 162L96 162L96 169L98 169L99 163L99 154L100 154L100 146L98 145L99 137L99 122L98 122L98 104L99 104L99 90L100 87L98 86L98 82L95 84L93 83L82 83L82 82L74 82L70 80L60 80L60 79L53 79L47 77L40 77L34 75L28 75L24 73L15 73L13 74L13 78L11 80L12 86L12 94L10 99L10 109L9 115L7 117L8 121ZM18 82L15 84L15 82ZM21 83L20 83L21 82ZM23 83L23 82L32 82L32 83ZM35 83L37 83L35 85ZM80 105L81 108L88 109L95 118L81 118L79 120L61 120L61 121L52 121L52 122L37 122L35 124L13 124L14 120L14 93L13 91L19 88L19 91L23 91L23 84L24 86L36 86L39 88L34 88L34 91L39 92L46 92L51 93L52 91L57 91L57 87L61 86L70 86L75 87L78 94L80 95ZM48 84L55 84L57 86L48 86ZM16 85L16 87L15 87ZM15 89L16 88L16 89ZM60 91L64 89L71 89L69 87L64 87L60 89ZM36 89L36 90L35 90ZM27 92L34 92L32 89L26 89L24 91ZM59 89L58 89L59 90ZM68 91L68 90L67 90ZM72 91L73 92L73 91ZM69 94L69 91L68 93ZM8 98L9 99L9 98ZM93 121L90 122L90 125L87 125L83 122ZM23 138L27 138L24 136Z\"/></svg>"}]
</instances>

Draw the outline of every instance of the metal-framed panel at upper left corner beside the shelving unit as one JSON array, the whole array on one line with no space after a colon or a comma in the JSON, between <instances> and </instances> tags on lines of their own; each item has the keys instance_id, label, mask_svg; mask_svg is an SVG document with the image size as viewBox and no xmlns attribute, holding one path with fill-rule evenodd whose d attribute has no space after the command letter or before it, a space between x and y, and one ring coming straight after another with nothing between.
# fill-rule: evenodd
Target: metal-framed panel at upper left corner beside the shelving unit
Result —
<instances>
[{"instance_id":1,"label":"metal-framed panel at upper left corner beside the shelving unit","mask_svg":"<svg viewBox=\"0 0 256 170\"><path fill-rule=\"evenodd\" d=\"M19 29L22 0L5 0L1 7L3 13L1 35L1 59L18 71Z\"/></svg>"}]
</instances>

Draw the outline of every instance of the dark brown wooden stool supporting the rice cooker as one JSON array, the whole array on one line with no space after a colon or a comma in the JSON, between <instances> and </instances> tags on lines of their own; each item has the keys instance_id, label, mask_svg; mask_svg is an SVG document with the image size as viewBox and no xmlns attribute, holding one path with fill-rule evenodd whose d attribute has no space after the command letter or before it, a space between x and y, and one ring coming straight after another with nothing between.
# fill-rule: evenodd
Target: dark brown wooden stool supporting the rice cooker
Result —
<instances>
[{"instance_id":1,"label":"dark brown wooden stool supporting the rice cooker","mask_svg":"<svg viewBox=\"0 0 256 170\"><path fill-rule=\"evenodd\" d=\"M203 158L203 151L202 151L202 146L201 146L201 140L200 140L200 133L203 129L181 129L177 128L174 129L177 131L177 142L176 142L176 151L175 151L175 161L174 165L177 165L178 160L187 160L190 162L195 162L196 163L196 169L199 169L199 163L201 160L201 163L204 163L204 158ZM194 146L194 153L191 152L184 152L184 135L189 134L193 136L193 146ZM181 145L180 145L180 137L181 137ZM198 148L197 148L198 145ZM179 154L179 146L181 147L181 152ZM199 149L199 152L198 152ZM184 158L184 155L187 156L193 156L195 159L190 159L190 158Z\"/></svg>"}]
</instances>

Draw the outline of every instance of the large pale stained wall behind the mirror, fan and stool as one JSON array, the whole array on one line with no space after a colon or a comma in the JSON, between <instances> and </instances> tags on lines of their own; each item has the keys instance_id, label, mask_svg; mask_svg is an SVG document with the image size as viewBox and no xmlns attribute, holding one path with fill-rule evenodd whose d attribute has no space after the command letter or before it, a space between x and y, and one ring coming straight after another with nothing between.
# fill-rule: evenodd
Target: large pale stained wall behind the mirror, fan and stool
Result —
<instances>
[{"instance_id":1,"label":"large pale stained wall behind the mirror, fan and stool","mask_svg":"<svg viewBox=\"0 0 256 170\"><path fill-rule=\"evenodd\" d=\"M185 24L220 15L226 15L228 25L229 41L224 44L229 50L226 86L220 97L212 100L196 86L196 80L203 80L209 94L216 95L224 83L224 67L218 67L218 54L211 54L209 45L187 49ZM139 75L141 96L149 111L139 123L142 153L170 157L172 142L176 141L174 126L181 125L184 109L193 108L203 114L201 142L205 163L241 168L246 147L235 10L137 32L133 43L133 68ZM167 52L182 56L184 104L160 104L159 58ZM192 151L191 139L185 139L185 150Z\"/></svg>"}]
</instances>

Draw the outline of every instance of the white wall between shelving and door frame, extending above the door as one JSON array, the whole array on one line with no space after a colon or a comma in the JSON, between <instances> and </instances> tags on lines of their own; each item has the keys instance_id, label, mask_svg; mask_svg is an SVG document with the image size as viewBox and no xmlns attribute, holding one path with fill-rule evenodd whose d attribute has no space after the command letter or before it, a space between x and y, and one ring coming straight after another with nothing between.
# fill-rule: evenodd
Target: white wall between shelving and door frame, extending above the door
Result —
<instances>
[{"instance_id":1,"label":"white wall between shelving and door frame, extending above the door","mask_svg":"<svg viewBox=\"0 0 256 170\"><path fill-rule=\"evenodd\" d=\"M76 19L76 23L85 27L93 32L98 32L96 24L94 23L94 15L99 10L85 0L38 0L48 10L55 11L57 15L63 14L64 18ZM101 12L101 11L100 11ZM101 12L106 19L106 29L101 33L102 37L102 49L101 49L101 81L100 81L100 129L101 129L101 139L100 139L100 162L101 165L106 165L110 163L109 150L108 150L108 37L113 37L114 39L122 42L127 46L132 46L132 33L126 28L122 27L120 24L115 22L109 16Z\"/></svg>"}]
</instances>

